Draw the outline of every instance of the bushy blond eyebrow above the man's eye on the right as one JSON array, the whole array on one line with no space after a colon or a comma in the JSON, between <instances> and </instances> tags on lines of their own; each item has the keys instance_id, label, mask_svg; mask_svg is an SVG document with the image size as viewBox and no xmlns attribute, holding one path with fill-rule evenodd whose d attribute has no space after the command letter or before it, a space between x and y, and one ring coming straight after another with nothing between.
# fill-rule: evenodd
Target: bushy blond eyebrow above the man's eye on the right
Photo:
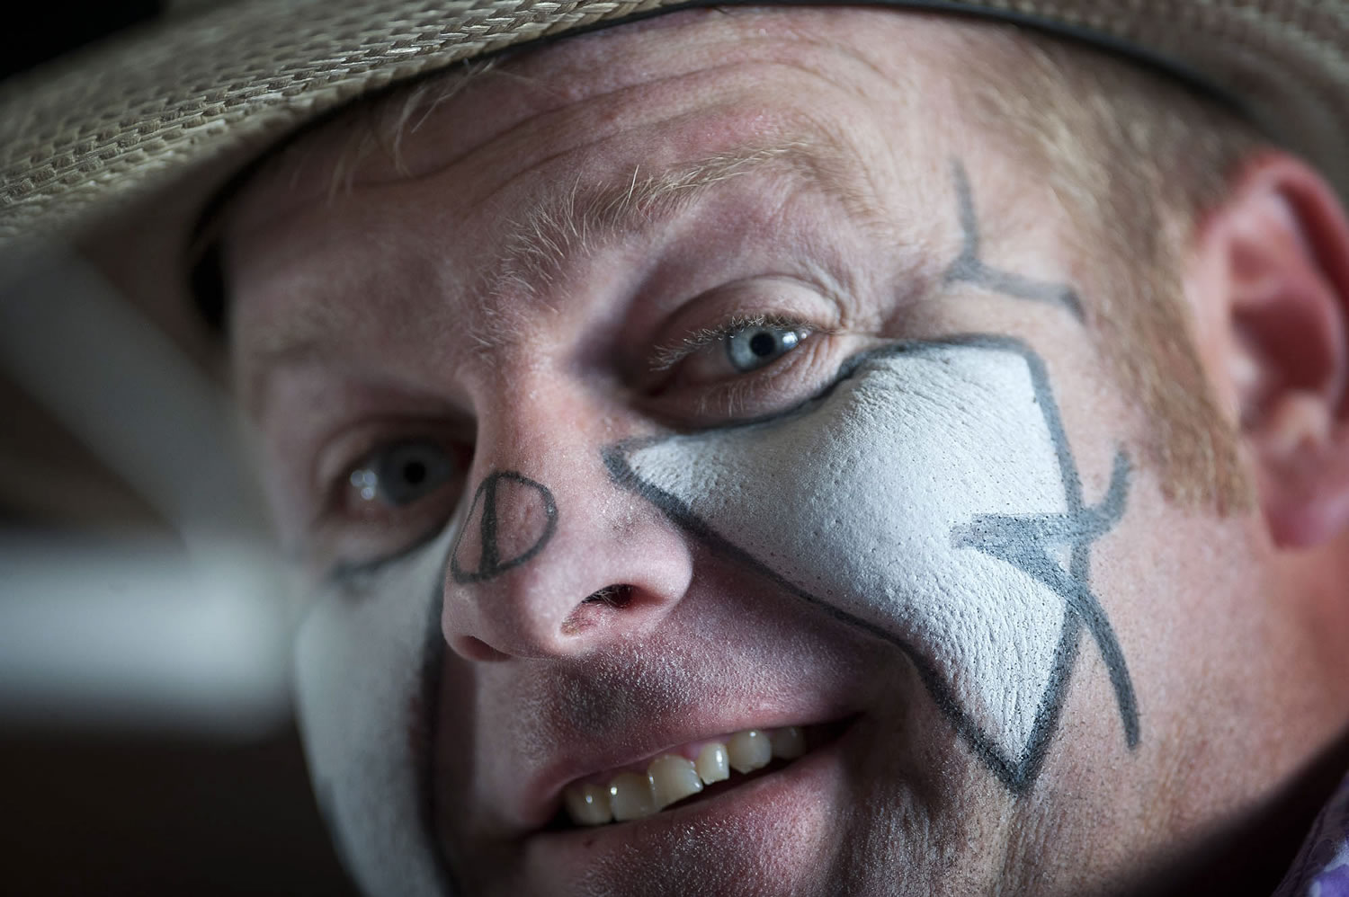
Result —
<instances>
[{"instance_id":1,"label":"bushy blond eyebrow above the man's eye on the right","mask_svg":"<svg viewBox=\"0 0 1349 897\"><path fill-rule=\"evenodd\" d=\"M718 185L768 170L785 171L838 198L863 225L886 227L888 216L858 154L828 129L812 131L808 138L738 147L666 171L643 174L638 165L622 181L587 185L577 177L550 185L506 225L487 293L542 302L541 293L561 278L568 262L677 217ZM484 314L471 340L482 349L500 348L514 339L517 317Z\"/></svg>"}]
</instances>

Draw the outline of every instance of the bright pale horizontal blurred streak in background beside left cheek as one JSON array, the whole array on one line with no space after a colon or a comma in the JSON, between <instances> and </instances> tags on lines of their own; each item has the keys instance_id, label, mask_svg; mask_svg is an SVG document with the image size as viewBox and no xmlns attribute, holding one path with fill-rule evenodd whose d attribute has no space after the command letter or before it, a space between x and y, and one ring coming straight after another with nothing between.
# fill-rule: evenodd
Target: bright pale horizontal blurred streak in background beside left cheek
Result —
<instances>
[{"instance_id":1,"label":"bright pale horizontal blurred streak in background beside left cheek","mask_svg":"<svg viewBox=\"0 0 1349 897\"><path fill-rule=\"evenodd\" d=\"M266 558L0 538L0 720L262 736L290 712Z\"/></svg>"}]
</instances>

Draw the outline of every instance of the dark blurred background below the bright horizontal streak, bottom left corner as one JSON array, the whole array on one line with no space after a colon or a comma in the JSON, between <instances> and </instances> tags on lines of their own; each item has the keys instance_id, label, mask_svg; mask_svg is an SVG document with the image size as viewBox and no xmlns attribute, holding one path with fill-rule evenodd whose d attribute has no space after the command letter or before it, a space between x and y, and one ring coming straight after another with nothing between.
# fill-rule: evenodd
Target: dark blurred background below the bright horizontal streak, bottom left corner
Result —
<instances>
[{"instance_id":1,"label":"dark blurred background below the bright horizontal streak, bottom left corner","mask_svg":"<svg viewBox=\"0 0 1349 897\"><path fill-rule=\"evenodd\" d=\"M0 893L355 894L291 728L229 745L152 734L0 734Z\"/></svg>"}]
</instances>

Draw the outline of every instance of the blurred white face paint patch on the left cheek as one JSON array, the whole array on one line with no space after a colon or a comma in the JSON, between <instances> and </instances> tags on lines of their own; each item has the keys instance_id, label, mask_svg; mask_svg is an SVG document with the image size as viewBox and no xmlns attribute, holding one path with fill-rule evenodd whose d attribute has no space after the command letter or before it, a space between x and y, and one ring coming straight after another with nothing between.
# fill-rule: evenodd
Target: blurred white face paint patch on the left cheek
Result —
<instances>
[{"instance_id":1,"label":"blurred white face paint patch on the left cheek","mask_svg":"<svg viewBox=\"0 0 1349 897\"><path fill-rule=\"evenodd\" d=\"M448 892L426 821L422 774L440 662L440 594L452 533L329 594L305 618L295 687L309 772L352 877L370 894Z\"/></svg>"}]
</instances>

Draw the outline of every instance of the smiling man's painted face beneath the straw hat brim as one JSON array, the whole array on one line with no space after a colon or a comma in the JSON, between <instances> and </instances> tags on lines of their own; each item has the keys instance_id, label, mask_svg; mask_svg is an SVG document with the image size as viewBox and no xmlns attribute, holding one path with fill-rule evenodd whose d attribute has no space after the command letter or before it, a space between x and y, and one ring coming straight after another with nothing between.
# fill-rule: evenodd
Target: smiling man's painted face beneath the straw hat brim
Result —
<instances>
[{"instance_id":1,"label":"smiling man's painted face beneath the straw hat brim","mask_svg":"<svg viewBox=\"0 0 1349 897\"><path fill-rule=\"evenodd\" d=\"M1314 658L1253 525L1161 498L1089 330L1120 285L981 121L963 69L1005 51L687 13L240 198L237 379L368 884L1101 893L1325 743L1269 685ZM788 727L654 815L627 777L638 819L564 808Z\"/></svg>"}]
</instances>

